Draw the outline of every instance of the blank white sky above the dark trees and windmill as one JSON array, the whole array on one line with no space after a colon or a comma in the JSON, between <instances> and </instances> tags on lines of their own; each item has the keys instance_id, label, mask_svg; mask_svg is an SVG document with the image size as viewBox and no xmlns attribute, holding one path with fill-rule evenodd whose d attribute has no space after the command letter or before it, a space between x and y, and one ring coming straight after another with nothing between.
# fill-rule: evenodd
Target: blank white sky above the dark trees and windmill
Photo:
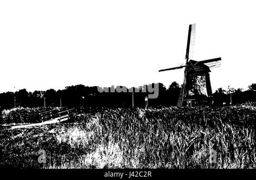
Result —
<instances>
[{"instance_id":1,"label":"blank white sky above the dark trees and windmill","mask_svg":"<svg viewBox=\"0 0 256 180\"><path fill-rule=\"evenodd\" d=\"M243 3L241 3L243 2ZM188 25L195 60L221 57L213 92L255 81L254 1L0 1L0 92L68 85L183 82Z\"/></svg>"}]
</instances>

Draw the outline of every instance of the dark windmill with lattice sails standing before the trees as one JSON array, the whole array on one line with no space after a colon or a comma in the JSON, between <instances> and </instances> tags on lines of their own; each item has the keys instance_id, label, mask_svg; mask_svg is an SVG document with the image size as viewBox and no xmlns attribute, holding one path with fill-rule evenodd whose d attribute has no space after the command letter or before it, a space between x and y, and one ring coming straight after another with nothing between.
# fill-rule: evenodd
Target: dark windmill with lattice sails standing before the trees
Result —
<instances>
[{"instance_id":1,"label":"dark windmill with lattice sails standing before the trees","mask_svg":"<svg viewBox=\"0 0 256 180\"><path fill-rule=\"evenodd\" d=\"M184 82L181 86L179 101L177 106L200 104L212 102L212 87L210 86L210 68L220 67L221 58L195 61L193 58L193 48L195 47L196 24L190 24L188 29L188 41L185 55L185 64L166 68L161 71L177 70L185 67Z\"/></svg>"}]
</instances>

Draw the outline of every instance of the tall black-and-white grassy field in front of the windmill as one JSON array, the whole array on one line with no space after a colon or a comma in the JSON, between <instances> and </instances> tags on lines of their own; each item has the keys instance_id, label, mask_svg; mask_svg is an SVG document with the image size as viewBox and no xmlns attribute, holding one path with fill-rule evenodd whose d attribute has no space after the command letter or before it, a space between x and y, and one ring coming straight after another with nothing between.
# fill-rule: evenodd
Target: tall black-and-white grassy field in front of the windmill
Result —
<instances>
[{"instance_id":1,"label":"tall black-and-white grassy field in front of the windmill","mask_svg":"<svg viewBox=\"0 0 256 180\"><path fill-rule=\"evenodd\" d=\"M68 123L0 131L0 167L256 168L255 110L243 104L74 113ZM39 149L46 163L38 162Z\"/></svg>"}]
</instances>

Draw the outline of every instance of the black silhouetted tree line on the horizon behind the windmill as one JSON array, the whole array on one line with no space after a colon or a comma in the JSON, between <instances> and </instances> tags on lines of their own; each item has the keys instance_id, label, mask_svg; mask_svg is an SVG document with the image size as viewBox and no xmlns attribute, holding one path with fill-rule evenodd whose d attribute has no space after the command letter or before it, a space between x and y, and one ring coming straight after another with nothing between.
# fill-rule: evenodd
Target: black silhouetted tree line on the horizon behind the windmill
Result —
<instances>
[{"instance_id":1,"label":"black silhouetted tree line on the horizon behind the windmill","mask_svg":"<svg viewBox=\"0 0 256 180\"><path fill-rule=\"evenodd\" d=\"M85 85L72 85L65 89L55 91L48 89L47 91L27 92L26 89L20 89L16 92L0 93L0 109L22 107L40 107L40 106L106 106L106 107L131 107L134 99L134 106L144 107L144 98L148 95L139 87L139 92L98 92L96 86L88 87ZM159 83L159 96L148 100L149 106L170 106L176 105L179 99L181 86L172 82L168 88ZM231 96L231 98L230 98ZM249 85L249 89L243 91L238 88L218 88L213 93L214 104L230 103L232 104L245 102L248 100L256 100L256 83Z\"/></svg>"}]
</instances>

